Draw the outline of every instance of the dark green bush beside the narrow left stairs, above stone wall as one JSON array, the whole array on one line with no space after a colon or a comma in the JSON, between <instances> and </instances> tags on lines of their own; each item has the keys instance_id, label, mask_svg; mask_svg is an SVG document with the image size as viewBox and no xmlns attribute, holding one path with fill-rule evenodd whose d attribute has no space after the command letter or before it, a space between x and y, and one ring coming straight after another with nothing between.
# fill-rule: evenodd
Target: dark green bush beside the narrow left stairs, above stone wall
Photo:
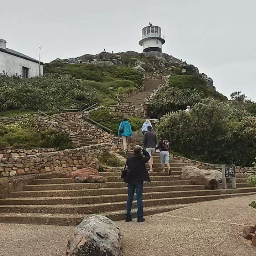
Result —
<instances>
[{"instance_id":1,"label":"dark green bush beside the narrow left stairs, above stone wall","mask_svg":"<svg viewBox=\"0 0 256 256\"><path fill-rule=\"evenodd\" d=\"M40 133L39 146L42 148L57 148L58 150L65 150L67 148L74 148L71 140L63 131L46 130Z\"/></svg>"}]
</instances>

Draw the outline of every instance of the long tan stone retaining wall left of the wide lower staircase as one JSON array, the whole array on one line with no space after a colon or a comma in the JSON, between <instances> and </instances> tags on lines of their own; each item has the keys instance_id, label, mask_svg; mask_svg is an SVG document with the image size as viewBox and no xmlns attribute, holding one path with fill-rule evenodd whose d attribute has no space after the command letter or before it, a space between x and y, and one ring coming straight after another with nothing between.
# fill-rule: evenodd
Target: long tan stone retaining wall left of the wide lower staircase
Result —
<instances>
[{"instance_id":1,"label":"long tan stone retaining wall left of the wide lower staircase","mask_svg":"<svg viewBox=\"0 0 256 256\"><path fill-rule=\"evenodd\" d=\"M98 144L50 153L37 153L30 156L0 158L0 177L31 173L71 172L82 167L89 156L97 157L110 145Z\"/></svg>"}]
</instances>

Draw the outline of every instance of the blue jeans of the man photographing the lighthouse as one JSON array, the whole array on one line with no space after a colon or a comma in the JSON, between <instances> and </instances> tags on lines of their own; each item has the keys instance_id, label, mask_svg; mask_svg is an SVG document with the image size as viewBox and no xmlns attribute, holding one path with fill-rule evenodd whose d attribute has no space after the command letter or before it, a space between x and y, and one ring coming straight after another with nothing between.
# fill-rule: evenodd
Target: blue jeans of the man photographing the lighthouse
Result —
<instances>
[{"instance_id":1,"label":"blue jeans of the man photographing the lighthouse","mask_svg":"<svg viewBox=\"0 0 256 256\"><path fill-rule=\"evenodd\" d=\"M137 217L143 217L143 202L142 202L142 190L143 190L143 182L134 182L127 184L127 202L126 202L126 217L131 217L131 208L132 208L132 200L134 198L134 192L136 189L136 198L137 198Z\"/></svg>"}]
</instances>

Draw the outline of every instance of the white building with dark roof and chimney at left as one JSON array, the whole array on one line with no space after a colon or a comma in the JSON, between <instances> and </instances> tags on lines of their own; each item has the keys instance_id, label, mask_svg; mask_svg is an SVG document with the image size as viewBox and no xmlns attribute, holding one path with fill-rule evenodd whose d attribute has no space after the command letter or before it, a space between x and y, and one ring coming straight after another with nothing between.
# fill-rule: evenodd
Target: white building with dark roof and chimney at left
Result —
<instances>
[{"instance_id":1,"label":"white building with dark roof and chimney at left","mask_svg":"<svg viewBox=\"0 0 256 256\"><path fill-rule=\"evenodd\" d=\"M23 78L39 75L39 61L20 52L6 48L6 41L0 39L0 73L18 74ZM43 63L40 62L40 72L43 74Z\"/></svg>"}]
</instances>

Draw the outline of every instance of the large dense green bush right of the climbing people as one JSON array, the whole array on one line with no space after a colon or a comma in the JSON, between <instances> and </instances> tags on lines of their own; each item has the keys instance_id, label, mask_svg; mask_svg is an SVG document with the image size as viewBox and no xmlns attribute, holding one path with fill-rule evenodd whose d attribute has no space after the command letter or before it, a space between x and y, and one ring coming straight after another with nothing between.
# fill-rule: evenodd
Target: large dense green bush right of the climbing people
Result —
<instances>
[{"instance_id":1,"label":"large dense green bush right of the climbing people","mask_svg":"<svg viewBox=\"0 0 256 256\"><path fill-rule=\"evenodd\" d=\"M214 99L164 115L157 131L173 151L200 161L250 166L256 154L256 117Z\"/></svg>"}]
</instances>

